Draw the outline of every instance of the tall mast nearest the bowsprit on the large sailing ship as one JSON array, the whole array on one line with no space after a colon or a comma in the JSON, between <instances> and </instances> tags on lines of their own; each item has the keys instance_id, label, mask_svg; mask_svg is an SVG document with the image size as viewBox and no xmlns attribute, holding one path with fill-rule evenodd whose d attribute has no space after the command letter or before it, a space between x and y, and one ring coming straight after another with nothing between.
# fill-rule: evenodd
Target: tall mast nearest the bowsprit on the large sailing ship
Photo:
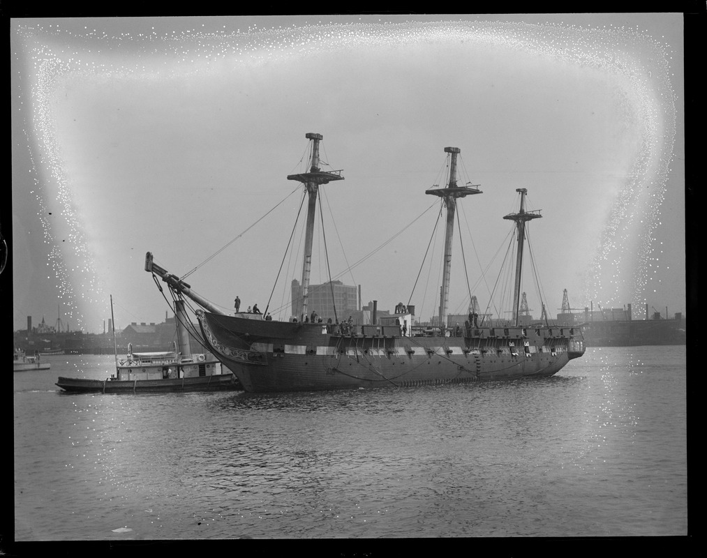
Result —
<instances>
[{"instance_id":1,"label":"tall mast nearest the bowsprit on the large sailing ship","mask_svg":"<svg viewBox=\"0 0 707 558\"><path fill-rule=\"evenodd\" d=\"M320 184L327 184L332 180L343 180L340 170L325 172L319 168L319 142L324 139L321 133L307 133L305 137L312 142L312 166L310 172L300 174L289 174L288 180L297 180L305 185L309 194L309 205L307 208L307 229L305 231L305 254L302 262L302 311L300 319L304 320L307 315L307 303L309 297L310 271L312 269L312 239L314 237L314 221L317 210L317 195Z\"/></svg>"}]
</instances>

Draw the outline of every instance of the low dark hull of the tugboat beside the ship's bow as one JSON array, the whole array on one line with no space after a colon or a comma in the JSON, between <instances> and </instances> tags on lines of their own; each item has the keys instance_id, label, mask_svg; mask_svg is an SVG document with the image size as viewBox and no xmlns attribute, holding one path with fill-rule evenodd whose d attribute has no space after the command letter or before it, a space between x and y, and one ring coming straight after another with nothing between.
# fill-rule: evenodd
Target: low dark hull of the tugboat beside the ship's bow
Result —
<instances>
[{"instance_id":1,"label":"low dark hull of the tugboat beside the ship's bow","mask_svg":"<svg viewBox=\"0 0 707 558\"><path fill-rule=\"evenodd\" d=\"M57 386L72 393L163 393L241 389L233 374L154 380L91 380L59 377Z\"/></svg>"}]
</instances>

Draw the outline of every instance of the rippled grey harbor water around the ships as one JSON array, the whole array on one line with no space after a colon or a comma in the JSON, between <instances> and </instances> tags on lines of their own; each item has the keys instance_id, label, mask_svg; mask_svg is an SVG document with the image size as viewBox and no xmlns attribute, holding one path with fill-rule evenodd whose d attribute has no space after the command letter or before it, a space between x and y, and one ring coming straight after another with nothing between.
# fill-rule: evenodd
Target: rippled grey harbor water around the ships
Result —
<instances>
[{"instance_id":1,"label":"rippled grey harbor water around the ships","mask_svg":"<svg viewBox=\"0 0 707 558\"><path fill-rule=\"evenodd\" d=\"M69 394L14 376L15 540L687 534L686 348L548 379L326 393Z\"/></svg>"}]
</instances>

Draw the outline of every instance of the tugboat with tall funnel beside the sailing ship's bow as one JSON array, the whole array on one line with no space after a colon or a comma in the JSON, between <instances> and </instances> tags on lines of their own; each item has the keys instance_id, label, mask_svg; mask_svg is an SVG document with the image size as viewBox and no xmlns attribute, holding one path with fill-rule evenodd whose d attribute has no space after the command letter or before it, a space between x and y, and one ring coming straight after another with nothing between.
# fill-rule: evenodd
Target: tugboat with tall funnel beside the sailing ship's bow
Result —
<instances>
[{"instance_id":1,"label":"tugboat with tall funnel beside the sailing ship's bow","mask_svg":"<svg viewBox=\"0 0 707 558\"><path fill-rule=\"evenodd\" d=\"M175 350L172 351L133 352L132 345L128 345L128 354L124 359L118 361L116 356L115 374L110 377L100 380L60 376L57 386L70 392L100 393L242 389L233 372L221 364L214 355L209 352L191 352L187 330L189 321L184 301L175 302L175 315L177 338L180 340L179 348L175 343Z\"/></svg>"}]
</instances>

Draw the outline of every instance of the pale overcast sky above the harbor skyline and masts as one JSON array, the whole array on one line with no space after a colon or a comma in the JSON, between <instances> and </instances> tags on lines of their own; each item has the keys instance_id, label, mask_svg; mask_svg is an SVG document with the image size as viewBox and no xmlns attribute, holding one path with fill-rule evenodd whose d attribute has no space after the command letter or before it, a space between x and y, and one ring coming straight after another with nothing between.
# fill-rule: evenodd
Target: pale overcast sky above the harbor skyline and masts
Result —
<instances>
[{"instance_id":1,"label":"pale overcast sky above the harbor skyline and masts","mask_svg":"<svg viewBox=\"0 0 707 558\"><path fill-rule=\"evenodd\" d=\"M282 307L301 257L298 228L275 284L302 196L286 176L310 131L345 177L322 192L329 268L364 303L436 313L441 233L420 269L439 202L425 190L454 146L460 179L484 194L460 201L450 312L466 311L469 286L489 302L517 188L543 215L523 287L535 316L534 274L552 316L563 289L573 308L686 310L680 13L15 19L11 30L14 329L59 313L100 333L110 295L118 327L162 321L146 251L177 275L197 268L187 282L224 311L235 295L264 309L273 289L270 308ZM327 278L315 241L312 283Z\"/></svg>"}]
</instances>

